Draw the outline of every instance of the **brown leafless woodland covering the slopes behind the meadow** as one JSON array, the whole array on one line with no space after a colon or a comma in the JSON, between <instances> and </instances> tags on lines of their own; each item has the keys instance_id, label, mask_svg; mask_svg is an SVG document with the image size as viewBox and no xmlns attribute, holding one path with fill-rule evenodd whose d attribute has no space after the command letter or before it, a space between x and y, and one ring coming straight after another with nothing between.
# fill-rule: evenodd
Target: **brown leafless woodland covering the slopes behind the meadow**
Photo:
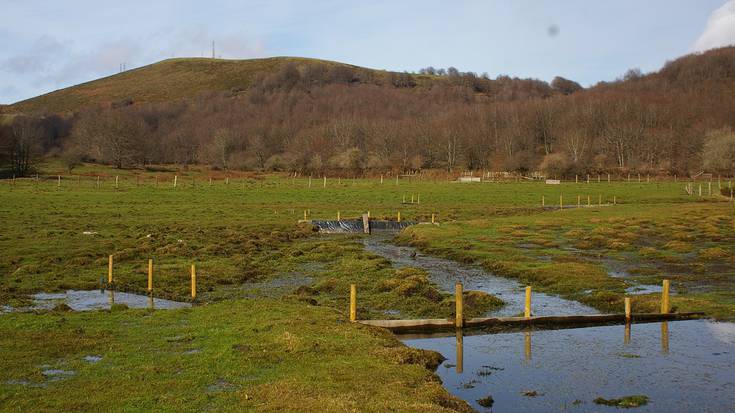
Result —
<instances>
[{"instance_id":1,"label":"brown leafless woodland covering the slopes behind the meadow","mask_svg":"<svg viewBox=\"0 0 735 413\"><path fill-rule=\"evenodd\" d=\"M17 116L0 127L0 163L23 175L34 158L58 151L70 168L88 160L354 176L733 172L734 48L685 56L648 75L631 70L588 89L564 78L490 79L454 68L421 74L430 81L285 65L247 90Z\"/></svg>"}]
</instances>

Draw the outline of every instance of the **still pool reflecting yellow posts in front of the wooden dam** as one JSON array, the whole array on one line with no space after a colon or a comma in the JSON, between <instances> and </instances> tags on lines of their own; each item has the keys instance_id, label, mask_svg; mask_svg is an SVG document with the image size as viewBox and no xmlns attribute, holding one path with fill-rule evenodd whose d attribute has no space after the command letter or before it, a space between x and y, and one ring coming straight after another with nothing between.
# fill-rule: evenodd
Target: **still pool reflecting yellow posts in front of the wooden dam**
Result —
<instances>
[{"instance_id":1,"label":"still pool reflecting yellow posts in front of the wooden dam","mask_svg":"<svg viewBox=\"0 0 735 413\"><path fill-rule=\"evenodd\" d=\"M651 400L640 412L732 411L735 342L715 332L735 332L735 324L711 324L636 323L635 339L627 324L484 335L456 331L449 337L414 335L404 342L442 353L448 359L437 369L442 383L478 411L486 410L476 400L488 394L495 400L494 411L574 406L576 411L612 412L593 400L635 394Z\"/></svg>"}]
</instances>

